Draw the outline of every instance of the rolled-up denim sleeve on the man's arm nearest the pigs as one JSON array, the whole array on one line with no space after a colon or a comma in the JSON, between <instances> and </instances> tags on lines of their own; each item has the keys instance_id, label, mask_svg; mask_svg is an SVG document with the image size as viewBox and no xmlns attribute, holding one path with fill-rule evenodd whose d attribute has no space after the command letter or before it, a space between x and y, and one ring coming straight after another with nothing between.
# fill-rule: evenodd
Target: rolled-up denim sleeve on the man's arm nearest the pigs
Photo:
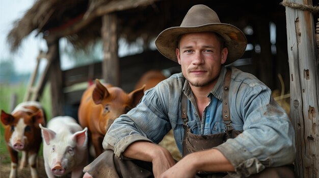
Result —
<instances>
[{"instance_id":1,"label":"rolled-up denim sleeve on the man's arm nearest the pigs","mask_svg":"<svg viewBox=\"0 0 319 178\"><path fill-rule=\"evenodd\" d=\"M162 103L155 89L146 91L145 96L136 108L114 121L104 136L103 149L114 150L115 155L120 157L135 141L157 144L171 129L168 116L163 112Z\"/></svg>"}]
</instances>

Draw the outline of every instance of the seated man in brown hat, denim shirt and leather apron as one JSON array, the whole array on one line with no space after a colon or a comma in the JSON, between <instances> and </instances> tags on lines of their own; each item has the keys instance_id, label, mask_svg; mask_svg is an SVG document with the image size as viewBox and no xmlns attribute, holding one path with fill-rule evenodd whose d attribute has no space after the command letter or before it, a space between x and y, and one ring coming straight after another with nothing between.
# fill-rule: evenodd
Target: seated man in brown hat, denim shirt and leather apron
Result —
<instances>
[{"instance_id":1,"label":"seated man in brown hat, denim shirt and leather apron","mask_svg":"<svg viewBox=\"0 0 319 178\"><path fill-rule=\"evenodd\" d=\"M179 27L160 33L155 44L181 65L182 74L146 91L135 109L115 120L103 140L107 151L84 169L84 177L294 176L293 168L284 166L295 159L294 129L271 90L234 67L226 72L225 65L246 49L240 29L221 23L207 6L196 5ZM228 128L244 131L176 163L168 150L154 144L171 128L181 153L192 150L183 145L191 134L206 139Z\"/></svg>"}]
</instances>

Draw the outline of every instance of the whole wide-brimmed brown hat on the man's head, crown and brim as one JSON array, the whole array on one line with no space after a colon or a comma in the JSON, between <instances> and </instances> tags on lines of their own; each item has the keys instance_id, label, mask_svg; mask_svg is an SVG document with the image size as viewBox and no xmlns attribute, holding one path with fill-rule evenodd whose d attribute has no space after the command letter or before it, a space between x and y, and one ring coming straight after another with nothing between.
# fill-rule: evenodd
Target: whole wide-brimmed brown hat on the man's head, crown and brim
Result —
<instances>
[{"instance_id":1,"label":"whole wide-brimmed brown hat on the man's head, crown and brim","mask_svg":"<svg viewBox=\"0 0 319 178\"><path fill-rule=\"evenodd\" d=\"M243 56L247 46L245 34L233 25L221 23L216 12L205 5L193 6L180 26L170 27L159 33L155 45L165 57L177 62L175 49L178 37L185 33L204 31L214 31L225 39L228 48L225 65Z\"/></svg>"}]
</instances>

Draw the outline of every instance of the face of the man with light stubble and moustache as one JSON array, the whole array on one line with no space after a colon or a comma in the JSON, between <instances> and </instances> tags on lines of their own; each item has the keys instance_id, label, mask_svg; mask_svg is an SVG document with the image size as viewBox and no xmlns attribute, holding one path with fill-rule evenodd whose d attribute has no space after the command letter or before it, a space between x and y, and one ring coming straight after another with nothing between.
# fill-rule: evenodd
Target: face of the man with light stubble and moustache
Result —
<instances>
[{"instance_id":1,"label":"face of the man with light stubble and moustache","mask_svg":"<svg viewBox=\"0 0 319 178\"><path fill-rule=\"evenodd\" d=\"M183 34L176 48L182 73L194 87L214 87L227 53L213 32Z\"/></svg>"}]
</instances>

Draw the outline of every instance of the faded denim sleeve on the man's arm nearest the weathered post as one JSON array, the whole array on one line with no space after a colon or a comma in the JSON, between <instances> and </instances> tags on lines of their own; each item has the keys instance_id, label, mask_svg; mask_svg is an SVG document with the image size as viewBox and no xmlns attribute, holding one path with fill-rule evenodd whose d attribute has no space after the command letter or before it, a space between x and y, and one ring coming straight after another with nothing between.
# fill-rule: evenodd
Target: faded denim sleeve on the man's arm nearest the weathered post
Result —
<instances>
[{"instance_id":1,"label":"faded denim sleeve on the man's arm nearest the weathered post","mask_svg":"<svg viewBox=\"0 0 319 178\"><path fill-rule=\"evenodd\" d=\"M293 163L296 155L294 128L285 111L271 97L270 89L256 85L244 91L242 88L242 92L230 103L241 103L233 107L244 119L244 132L216 147L234 166L235 172L231 174L249 176L265 167Z\"/></svg>"}]
</instances>

